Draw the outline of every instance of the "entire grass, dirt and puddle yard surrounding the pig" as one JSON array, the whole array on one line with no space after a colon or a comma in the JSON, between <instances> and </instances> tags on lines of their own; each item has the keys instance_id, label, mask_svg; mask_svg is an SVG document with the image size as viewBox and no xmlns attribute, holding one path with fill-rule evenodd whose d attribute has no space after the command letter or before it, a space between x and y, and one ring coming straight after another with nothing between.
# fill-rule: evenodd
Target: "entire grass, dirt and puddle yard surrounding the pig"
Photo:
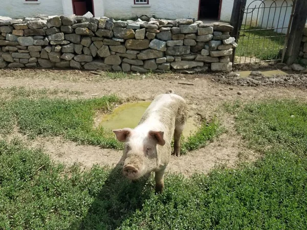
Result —
<instances>
[{"instance_id":1,"label":"entire grass, dirt and puddle yard surrounding the pig","mask_svg":"<svg viewBox=\"0 0 307 230\"><path fill-rule=\"evenodd\" d=\"M0 70L1 229L304 229L305 74L97 73ZM189 130L155 195L114 168L107 126L169 88Z\"/></svg>"}]
</instances>

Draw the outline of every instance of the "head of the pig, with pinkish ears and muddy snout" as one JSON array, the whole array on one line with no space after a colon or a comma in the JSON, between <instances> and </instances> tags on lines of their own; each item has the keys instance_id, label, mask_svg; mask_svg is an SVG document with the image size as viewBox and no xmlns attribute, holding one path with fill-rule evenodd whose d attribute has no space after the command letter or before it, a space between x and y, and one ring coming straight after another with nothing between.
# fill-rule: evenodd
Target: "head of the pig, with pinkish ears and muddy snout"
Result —
<instances>
[{"instance_id":1,"label":"head of the pig, with pinkish ears and muddy snout","mask_svg":"<svg viewBox=\"0 0 307 230\"><path fill-rule=\"evenodd\" d=\"M130 128L113 130L117 140L125 142L123 174L136 180L158 167L158 145L165 145L162 131L142 131Z\"/></svg>"}]
</instances>

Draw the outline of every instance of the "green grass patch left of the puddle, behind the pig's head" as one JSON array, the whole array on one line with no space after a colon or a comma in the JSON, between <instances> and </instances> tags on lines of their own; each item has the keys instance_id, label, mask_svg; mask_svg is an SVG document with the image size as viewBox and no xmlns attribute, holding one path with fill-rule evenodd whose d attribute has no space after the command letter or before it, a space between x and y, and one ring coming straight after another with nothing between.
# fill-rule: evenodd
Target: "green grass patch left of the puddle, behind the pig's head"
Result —
<instances>
[{"instance_id":1,"label":"green grass patch left of the puddle, behind the pig's head","mask_svg":"<svg viewBox=\"0 0 307 230\"><path fill-rule=\"evenodd\" d=\"M100 145L120 149L111 133L102 127L94 128L95 112L110 112L116 96L91 100L17 99L0 101L0 134L9 134L17 124L19 132L30 138L36 136L64 136L80 144Z\"/></svg>"}]
</instances>

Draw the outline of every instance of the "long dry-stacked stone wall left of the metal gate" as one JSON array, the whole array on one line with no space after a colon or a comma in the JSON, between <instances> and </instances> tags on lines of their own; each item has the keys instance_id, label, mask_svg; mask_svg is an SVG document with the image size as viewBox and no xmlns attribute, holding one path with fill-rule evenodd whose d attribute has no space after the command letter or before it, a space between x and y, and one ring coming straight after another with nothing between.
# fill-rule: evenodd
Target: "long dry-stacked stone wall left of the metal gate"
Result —
<instances>
[{"instance_id":1,"label":"long dry-stacked stone wall left of the metal gate","mask_svg":"<svg viewBox=\"0 0 307 230\"><path fill-rule=\"evenodd\" d=\"M0 20L0 68L124 72L231 71L235 39L224 24L55 16Z\"/></svg>"}]
</instances>

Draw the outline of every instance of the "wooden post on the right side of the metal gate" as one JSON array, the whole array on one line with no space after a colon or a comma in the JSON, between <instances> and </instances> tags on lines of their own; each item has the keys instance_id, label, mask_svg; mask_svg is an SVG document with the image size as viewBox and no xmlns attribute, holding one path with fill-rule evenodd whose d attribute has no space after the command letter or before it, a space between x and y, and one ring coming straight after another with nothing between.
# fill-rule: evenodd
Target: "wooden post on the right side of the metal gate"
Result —
<instances>
[{"instance_id":1,"label":"wooden post on the right side of the metal gate","mask_svg":"<svg viewBox=\"0 0 307 230\"><path fill-rule=\"evenodd\" d=\"M296 0L294 15L292 20L291 31L289 33L289 40L287 44L285 60L286 64L293 64L299 54L300 45L303 37L303 30L305 28L307 19L307 1Z\"/></svg>"}]
</instances>

